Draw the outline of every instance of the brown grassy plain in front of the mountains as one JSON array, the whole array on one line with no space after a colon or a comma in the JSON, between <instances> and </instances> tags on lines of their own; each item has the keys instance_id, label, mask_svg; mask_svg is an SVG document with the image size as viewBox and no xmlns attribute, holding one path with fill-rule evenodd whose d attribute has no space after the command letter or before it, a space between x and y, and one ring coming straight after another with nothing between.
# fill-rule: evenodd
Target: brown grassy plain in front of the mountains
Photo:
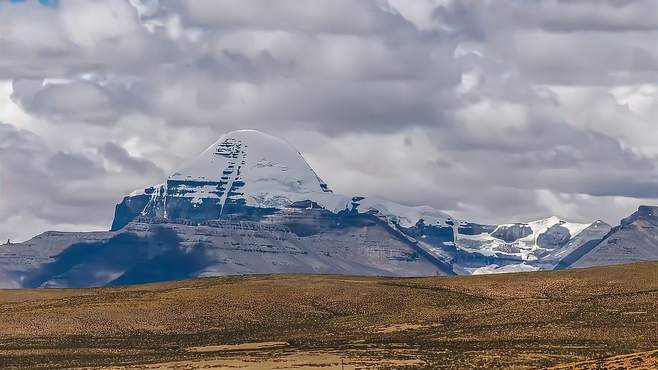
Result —
<instances>
[{"instance_id":1,"label":"brown grassy plain in front of the mountains","mask_svg":"<svg viewBox=\"0 0 658 370\"><path fill-rule=\"evenodd\" d=\"M658 263L450 278L283 275L4 290L0 365L653 368L657 298Z\"/></svg>"}]
</instances>

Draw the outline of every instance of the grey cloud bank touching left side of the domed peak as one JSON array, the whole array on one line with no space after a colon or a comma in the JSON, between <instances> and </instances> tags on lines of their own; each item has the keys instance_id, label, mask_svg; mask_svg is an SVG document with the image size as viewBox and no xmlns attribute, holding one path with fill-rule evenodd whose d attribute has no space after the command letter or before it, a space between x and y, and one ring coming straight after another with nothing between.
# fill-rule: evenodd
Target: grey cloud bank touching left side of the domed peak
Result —
<instances>
[{"instance_id":1,"label":"grey cloud bank touching left side of the domed peak","mask_svg":"<svg viewBox=\"0 0 658 370\"><path fill-rule=\"evenodd\" d=\"M103 225L113 213L108 205L163 176L153 163L111 142L96 154L65 152L39 135L0 123L0 219L5 220L0 235L23 239L47 225L107 229Z\"/></svg>"}]
</instances>

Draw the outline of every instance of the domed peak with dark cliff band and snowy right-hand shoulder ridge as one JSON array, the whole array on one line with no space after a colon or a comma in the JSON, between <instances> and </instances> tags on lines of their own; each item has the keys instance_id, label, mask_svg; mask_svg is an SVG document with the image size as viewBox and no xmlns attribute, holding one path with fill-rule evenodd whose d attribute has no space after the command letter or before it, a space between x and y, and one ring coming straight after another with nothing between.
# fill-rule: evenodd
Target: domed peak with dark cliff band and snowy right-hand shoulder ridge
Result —
<instances>
[{"instance_id":1,"label":"domed peak with dark cliff band and snowy right-hand shoulder ridge","mask_svg":"<svg viewBox=\"0 0 658 370\"><path fill-rule=\"evenodd\" d=\"M207 220L234 213L236 208L263 211L301 201L312 201L333 213L375 213L404 227L411 227L421 219L441 225L452 219L427 206L408 207L376 197L333 193L299 151L280 138L256 130L225 134L169 176L164 184L135 191L127 198L131 197L133 202L124 200L131 208L128 215L119 214L126 207L117 208L121 222L115 219L113 230L138 215L179 218L193 212L205 214L200 219Z\"/></svg>"}]
</instances>

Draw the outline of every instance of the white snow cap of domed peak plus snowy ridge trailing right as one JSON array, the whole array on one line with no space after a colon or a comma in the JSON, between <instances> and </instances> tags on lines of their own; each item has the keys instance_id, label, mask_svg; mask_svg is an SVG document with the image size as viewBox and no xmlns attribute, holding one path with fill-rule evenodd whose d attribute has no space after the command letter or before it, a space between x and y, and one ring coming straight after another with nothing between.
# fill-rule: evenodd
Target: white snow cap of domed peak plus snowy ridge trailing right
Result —
<instances>
[{"instance_id":1,"label":"white snow cap of domed peak plus snowy ridge trailing right","mask_svg":"<svg viewBox=\"0 0 658 370\"><path fill-rule=\"evenodd\" d=\"M380 198L335 194L286 141L256 130L229 132L168 178L169 193L193 202L244 199L252 207L281 208L311 200L331 212L356 207L410 227L419 220L444 224L451 217L431 207L408 207ZM216 191L217 187L223 191Z\"/></svg>"}]
</instances>

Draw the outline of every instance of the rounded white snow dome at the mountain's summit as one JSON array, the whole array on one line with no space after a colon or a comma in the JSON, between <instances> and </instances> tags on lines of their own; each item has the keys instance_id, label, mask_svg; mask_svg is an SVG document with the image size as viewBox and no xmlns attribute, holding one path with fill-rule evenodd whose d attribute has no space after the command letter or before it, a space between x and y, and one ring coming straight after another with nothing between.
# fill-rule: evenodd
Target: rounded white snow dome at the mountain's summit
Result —
<instances>
[{"instance_id":1,"label":"rounded white snow dome at the mountain's summit","mask_svg":"<svg viewBox=\"0 0 658 370\"><path fill-rule=\"evenodd\" d=\"M256 130L225 134L168 180L169 186L182 186L186 196L215 194L223 201L242 197L248 205L260 207L279 207L312 198L303 194L330 192L290 144ZM225 190L222 194L214 191L218 184Z\"/></svg>"}]
</instances>

